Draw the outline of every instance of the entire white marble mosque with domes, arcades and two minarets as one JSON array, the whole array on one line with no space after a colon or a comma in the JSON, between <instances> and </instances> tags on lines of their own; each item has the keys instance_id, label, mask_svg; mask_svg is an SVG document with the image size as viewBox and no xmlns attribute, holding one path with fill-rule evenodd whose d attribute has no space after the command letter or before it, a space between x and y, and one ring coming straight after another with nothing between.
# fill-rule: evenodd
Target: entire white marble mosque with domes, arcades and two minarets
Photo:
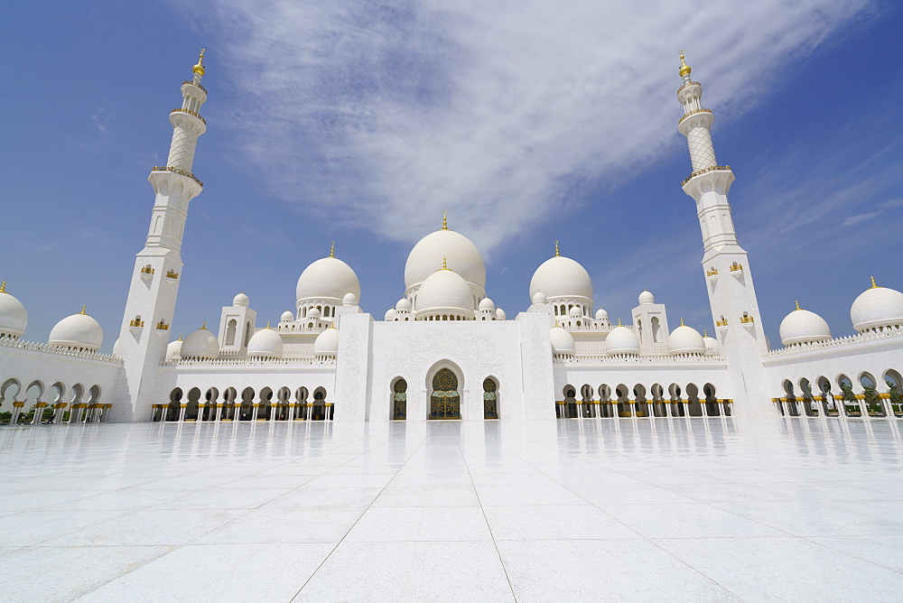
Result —
<instances>
[{"instance_id":1,"label":"entire white marble mosque with domes, arcades and two minarets","mask_svg":"<svg viewBox=\"0 0 903 603\"><path fill-rule=\"evenodd\" d=\"M405 264L405 291L381 317L363 311L354 270L330 252L304 269L296 306L260 326L247 295L170 341L182 233L203 184L191 172L207 128L203 52L170 114L167 162L151 170L154 207L112 355L84 309L47 343L23 338L23 304L0 287L0 421L487 421L725 415L903 416L903 293L876 285L852 302L857 335L834 339L791 311L769 349L752 265L731 221L731 168L715 159L712 111L681 56L678 122L693 164L684 192L703 235L712 335L669 321L651 292L632 323L592 306L590 275L559 255L512 319L487 297L479 250L447 226ZM526 292L526 291L525 291ZM852 292L851 292L852 293ZM851 294L852 297L852 294ZM212 326L212 325L211 325Z\"/></svg>"}]
</instances>

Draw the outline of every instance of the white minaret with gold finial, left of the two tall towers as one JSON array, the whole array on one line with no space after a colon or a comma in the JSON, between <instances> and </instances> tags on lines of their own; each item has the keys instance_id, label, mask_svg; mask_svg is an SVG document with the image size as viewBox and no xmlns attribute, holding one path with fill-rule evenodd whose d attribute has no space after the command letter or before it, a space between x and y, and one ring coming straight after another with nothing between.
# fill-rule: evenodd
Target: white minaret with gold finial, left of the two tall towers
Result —
<instances>
[{"instance_id":1,"label":"white minaret with gold finial, left of the two tall towers","mask_svg":"<svg viewBox=\"0 0 903 603\"><path fill-rule=\"evenodd\" d=\"M154 209L147 239L135 258L135 271L126 301L126 313L116 354L125 370L117 385L111 419L147 421L156 387L157 366L169 342L169 325L182 278L182 234L188 204L203 183L191 173L198 136L207 130L200 106L207 100L204 51L192 68L194 77L182 82L182 107L172 109L172 143L166 165L154 167L147 180L154 187Z\"/></svg>"}]
</instances>

